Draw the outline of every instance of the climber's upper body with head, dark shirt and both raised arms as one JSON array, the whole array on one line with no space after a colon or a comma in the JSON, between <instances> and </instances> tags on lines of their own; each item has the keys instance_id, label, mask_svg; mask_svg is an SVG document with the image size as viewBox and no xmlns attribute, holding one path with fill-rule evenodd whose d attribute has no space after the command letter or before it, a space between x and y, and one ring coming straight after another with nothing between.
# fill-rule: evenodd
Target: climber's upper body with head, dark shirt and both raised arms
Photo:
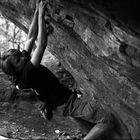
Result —
<instances>
[{"instance_id":1,"label":"climber's upper body with head, dark shirt and both raised arms","mask_svg":"<svg viewBox=\"0 0 140 140\"><path fill-rule=\"evenodd\" d=\"M17 49L10 49L4 52L2 69L13 77L15 85L21 90L21 93L29 97L31 90L30 93L34 92L37 98L45 103L41 108L41 113L47 119L51 119L52 110L68 99L70 93L65 94L67 88L60 84L45 66L40 64L47 46L48 35L53 30L48 21L45 22L45 8L47 7L44 1L37 3L24 50L21 52ZM34 45L36 48L30 57ZM47 114L44 112L46 108Z\"/></svg>"}]
</instances>

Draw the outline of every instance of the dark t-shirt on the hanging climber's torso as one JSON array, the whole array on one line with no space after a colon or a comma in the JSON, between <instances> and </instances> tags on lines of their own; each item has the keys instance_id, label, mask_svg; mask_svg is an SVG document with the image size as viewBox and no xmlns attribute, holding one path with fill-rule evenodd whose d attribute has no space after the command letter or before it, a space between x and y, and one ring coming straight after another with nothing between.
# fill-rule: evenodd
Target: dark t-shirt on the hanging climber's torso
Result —
<instances>
[{"instance_id":1,"label":"dark t-shirt on the hanging climber's torso","mask_svg":"<svg viewBox=\"0 0 140 140\"><path fill-rule=\"evenodd\" d=\"M36 68L30 61L30 55L25 50L22 52L28 58L17 85L20 89L32 88L39 93L40 100L51 104L52 108L62 105L71 94L71 91L59 83L55 75L45 66Z\"/></svg>"}]
</instances>

